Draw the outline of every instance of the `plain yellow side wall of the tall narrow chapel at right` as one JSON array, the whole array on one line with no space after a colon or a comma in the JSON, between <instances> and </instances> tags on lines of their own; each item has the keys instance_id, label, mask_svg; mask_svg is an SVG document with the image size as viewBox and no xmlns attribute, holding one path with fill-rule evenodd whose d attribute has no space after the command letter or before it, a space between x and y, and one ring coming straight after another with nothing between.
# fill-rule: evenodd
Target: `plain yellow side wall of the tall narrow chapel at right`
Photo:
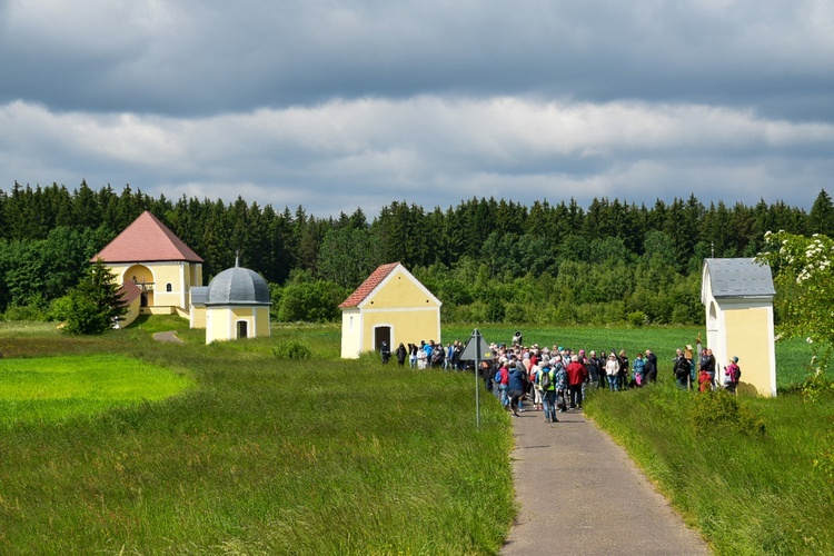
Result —
<instances>
[{"instance_id":1,"label":"plain yellow side wall of the tall narrow chapel at right","mask_svg":"<svg viewBox=\"0 0 834 556\"><path fill-rule=\"evenodd\" d=\"M738 391L771 396L771 336L767 308L724 311L727 359L738 357L742 380ZM722 369L728 360L716 361Z\"/></svg>"}]
</instances>

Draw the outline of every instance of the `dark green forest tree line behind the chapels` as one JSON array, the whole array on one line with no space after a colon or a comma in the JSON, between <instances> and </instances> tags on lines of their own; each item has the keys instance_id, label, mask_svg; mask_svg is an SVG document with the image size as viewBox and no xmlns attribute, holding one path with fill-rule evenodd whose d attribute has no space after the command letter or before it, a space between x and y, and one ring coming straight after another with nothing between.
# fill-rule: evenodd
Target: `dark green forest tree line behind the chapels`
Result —
<instances>
[{"instance_id":1,"label":"dark green forest tree line behind the chapels","mask_svg":"<svg viewBox=\"0 0 834 556\"><path fill-rule=\"evenodd\" d=\"M824 190L807 212L784 201L705 206L692 195L652 206L594 199L586 208L573 199L393 201L369 219L361 208L317 218L241 197L16 182L0 190L0 310L48 315L143 210L205 259L207 278L239 254L270 284L274 316L286 321L338 318L338 304L378 265L400 261L449 321L694 324L703 320L704 258L753 257L768 230L834 235Z\"/></svg>"}]
</instances>

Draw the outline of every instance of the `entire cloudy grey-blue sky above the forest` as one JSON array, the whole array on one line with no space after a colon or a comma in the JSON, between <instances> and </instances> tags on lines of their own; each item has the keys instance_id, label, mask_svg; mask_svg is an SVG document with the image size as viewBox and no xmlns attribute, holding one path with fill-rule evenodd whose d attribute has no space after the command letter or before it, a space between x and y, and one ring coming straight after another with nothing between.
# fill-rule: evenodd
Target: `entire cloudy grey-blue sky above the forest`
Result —
<instances>
[{"instance_id":1,"label":"entire cloudy grey-blue sky above the forest","mask_svg":"<svg viewBox=\"0 0 834 556\"><path fill-rule=\"evenodd\" d=\"M0 0L0 189L834 195L830 0Z\"/></svg>"}]
</instances>

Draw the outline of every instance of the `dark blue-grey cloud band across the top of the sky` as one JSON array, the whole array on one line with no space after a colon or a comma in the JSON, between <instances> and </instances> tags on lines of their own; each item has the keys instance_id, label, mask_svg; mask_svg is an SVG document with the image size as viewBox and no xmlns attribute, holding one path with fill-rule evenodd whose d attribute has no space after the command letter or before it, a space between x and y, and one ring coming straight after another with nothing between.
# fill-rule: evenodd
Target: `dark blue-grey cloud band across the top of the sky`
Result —
<instances>
[{"instance_id":1,"label":"dark blue-grey cloud band across the top of the sky","mask_svg":"<svg viewBox=\"0 0 834 556\"><path fill-rule=\"evenodd\" d=\"M832 11L797 1L13 3L0 98L196 115L538 95L830 118Z\"/></svg>"}]
</instances>

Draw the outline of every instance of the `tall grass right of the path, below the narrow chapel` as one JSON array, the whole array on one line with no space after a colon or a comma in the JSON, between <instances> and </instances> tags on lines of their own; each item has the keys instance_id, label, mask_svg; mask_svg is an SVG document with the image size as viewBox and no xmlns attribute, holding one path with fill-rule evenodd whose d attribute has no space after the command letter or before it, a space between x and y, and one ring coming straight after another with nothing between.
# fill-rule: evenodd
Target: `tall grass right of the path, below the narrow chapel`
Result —
<instances>
[{"instance_id":1,"label":"tall grass right of the path, below the narrow chapel","mask_svg":"<svg viewBox=\"0 0 834 556\"><path fill-rule=\"evenodd\" d=\"M663 377L662 377L663 378ZM834 483L814 466L831 446L834 399L736 398L765 433L698 427L701 396L672 378L597 391L590 415L655 480L717 554L833 554Z\"/></svg>"}]
</instances>

